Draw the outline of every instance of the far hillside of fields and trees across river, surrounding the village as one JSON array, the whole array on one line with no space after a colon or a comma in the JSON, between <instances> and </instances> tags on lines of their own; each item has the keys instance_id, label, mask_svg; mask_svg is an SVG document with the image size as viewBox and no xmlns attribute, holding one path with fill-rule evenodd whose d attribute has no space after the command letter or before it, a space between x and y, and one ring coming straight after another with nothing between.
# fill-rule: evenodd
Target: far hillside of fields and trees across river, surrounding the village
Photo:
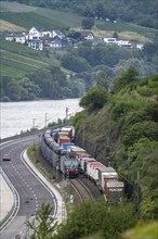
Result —
<instances>
[{"instance_id":1,"label":"far hillside of fields and trees across river, surrounding the village","mask_svg":"<svg viewBox=\"0 0 158 239\"><path fill-rule=\"evenodd\" d=\"M26 3L26 1L21 2ZM40 3L44 1L40 1ZM113 81L115 77L130 66L136 67L143 77L157 74L156 29L130 22L117 21L114 23L95 17L94 26L91 29L94 38L113 37L116 34L118 39L133 42L143 41L144 49L143 51L121 49L105 43L92 46L91 42L85 42L80 37L76 37L83 30L82 21L85 18L80 12L73 11L71 7L69 9L56 7L52 10L34 4L35 1L27 1L27 3L31 3L31 5L15 1L0 2L2 33L10 30L12 33L28 32L32 26L41 26L44 30L60 29L68 39L69 45L64 47L62 51L49 52L48 49L44 49L45 51L40 52L29 49L25 45L9 42L1 38L2 81L4 80L9 87L11 84L8 81L11 80L13 88L16 88L17 80L22 84L22 89L18 89L19 96L16 96L16 90L6 90L5 84L1 84L1 100L81 97L96 85L97 78L102 75L105 75L108 81ZM52 67L53 71L57 71L57 77L52 72ZM58 79L60 76L62 79ZM29 98L28 92L26 93L27 97L23 97L23 90L26 90L23 88L29 88L24 86L23 78L25 77L30 85L32 84L38 88L35 97L31 95ZM110 83L108 84L110 85ZM54 91L54 87L58 89L60 93ZM10 96L10 92L13 95Z\"/></svg>"}]
</instances>

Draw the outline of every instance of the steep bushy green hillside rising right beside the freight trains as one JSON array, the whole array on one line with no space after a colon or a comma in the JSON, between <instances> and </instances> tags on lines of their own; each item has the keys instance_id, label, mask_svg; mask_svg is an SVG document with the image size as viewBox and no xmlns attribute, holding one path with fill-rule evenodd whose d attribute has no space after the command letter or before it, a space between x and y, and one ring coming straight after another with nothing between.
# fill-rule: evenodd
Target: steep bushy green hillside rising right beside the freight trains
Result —
<instances>
[{"instance_id":1,"label":"steep bushy green hillside rising right beside the freight trains","mask_svg":"<svg viewBox=\"0 0 158 239\"><path fill-rule=\"evenodd\" d=\"M116 167L142 218L157 218L158 213L157 81L158 75L139 78L137 72L129 68L115 79L115 93L108 93L102 109L90 112L91 102L87 101L74 121L77 142L83 144L84 127L84 147L102 163L110 161ZM146 95L141 93L142 88ZM89 99L89 93L84 98Z\"/></svg>"}]
</instances>

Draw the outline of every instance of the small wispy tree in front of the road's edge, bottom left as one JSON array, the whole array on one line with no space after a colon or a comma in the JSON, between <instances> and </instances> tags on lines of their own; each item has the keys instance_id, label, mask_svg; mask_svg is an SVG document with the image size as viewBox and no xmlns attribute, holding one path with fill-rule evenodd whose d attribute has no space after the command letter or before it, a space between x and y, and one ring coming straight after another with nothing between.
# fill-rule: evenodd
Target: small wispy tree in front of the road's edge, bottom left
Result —
<instances>
[{"instance_id":1,"label":"small wispy tree in front of the road's edge, bottom left","mask_svg":"<svg viewBox=\"0 0 158 239\"><path fill-rule=\"evenodd\" d=\"M57 227L57 222L51 217L52 207L50 204L42 204L41 211L36 214L28 227L34 230L30 239L51 239Z\"/></svg>"}]
</instances>

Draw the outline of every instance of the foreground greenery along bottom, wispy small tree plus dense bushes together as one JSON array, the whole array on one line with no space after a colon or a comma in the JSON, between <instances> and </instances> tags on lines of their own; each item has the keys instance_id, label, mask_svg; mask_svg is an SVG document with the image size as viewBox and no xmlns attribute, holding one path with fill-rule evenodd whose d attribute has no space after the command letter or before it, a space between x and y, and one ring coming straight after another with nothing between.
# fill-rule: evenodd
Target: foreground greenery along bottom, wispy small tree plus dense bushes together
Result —
<instances>
[{"instance_id":1,"label":"foreground greenery along bottom, wispy small tree plus dense bushes together","mask_svg":"<svg viewBox=\"0 0 158 239\"><path fill-rule=\"evenodd\" d=\"M137 214L131 203L121 203L118 206L113 203L105 204L103 200L84 201L74 207L67 221L58 226L51 225L53 218L49 215L50 210L49 205L43 205L36 218L28 224L35 231L31 239L80 239L98 231L101 238L121 239L122 232L137 222ZM39 226L36 226L37 221ZM53 234L55 231L57 234Z\"/></svg>"}]
</instances>

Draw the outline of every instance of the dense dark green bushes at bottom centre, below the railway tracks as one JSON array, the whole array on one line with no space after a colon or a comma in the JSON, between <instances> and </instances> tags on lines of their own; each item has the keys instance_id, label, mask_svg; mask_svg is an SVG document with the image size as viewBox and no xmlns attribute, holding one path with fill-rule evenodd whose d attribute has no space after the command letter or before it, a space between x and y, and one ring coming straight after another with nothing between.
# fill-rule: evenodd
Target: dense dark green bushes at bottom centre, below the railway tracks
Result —
<instances>
[{"instance_id":1,"label":"dense dark green bushes at bottom centre, below the railway tracks","mask_svg":"<svg viewBox=\"0 0 158 239\"><path fill-rule=\"evenodd\" d=\"M84 202L75 209L53 239L79 239L102 231L105 239L121 238L136 222L132 204L105 204L103 201Z\"/></svg>"}]
</instances>

